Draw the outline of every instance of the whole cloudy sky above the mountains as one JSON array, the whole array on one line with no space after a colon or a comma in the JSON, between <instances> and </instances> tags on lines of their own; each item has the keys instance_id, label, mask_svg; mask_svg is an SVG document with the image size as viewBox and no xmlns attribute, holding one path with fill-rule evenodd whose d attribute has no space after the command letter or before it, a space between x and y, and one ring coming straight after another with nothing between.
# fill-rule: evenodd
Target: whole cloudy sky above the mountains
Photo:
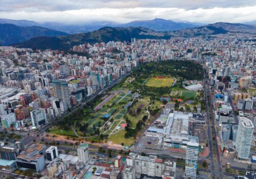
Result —
<instances>
[{"instance_id":1,"label":"whole cloudy sky above the mountains","mask_svg":"<svg viewBox=\"0 0 256 179\"><path fill-rule=\"evenodd\" d=\"M164 18L194 23L256 20L256 0L0 0L0 18L79 24Z\"/></svg>"}]
</instances>

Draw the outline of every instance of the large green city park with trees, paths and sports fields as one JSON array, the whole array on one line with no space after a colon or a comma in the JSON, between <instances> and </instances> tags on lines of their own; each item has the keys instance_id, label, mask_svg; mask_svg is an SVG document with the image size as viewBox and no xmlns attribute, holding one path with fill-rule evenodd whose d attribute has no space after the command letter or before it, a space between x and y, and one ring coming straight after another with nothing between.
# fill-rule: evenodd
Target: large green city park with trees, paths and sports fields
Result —
<instances>
[{"instance_id":1,"label":"large green city park with trees, paths and sports fields","mask_svg":"<svg viewBox=\"0 0 256 179\"><path fill-rule=\"evenodd\" d=\"M190 61L168 60L141 64L129 77L107 92L79 107L75 113L58 120L48 132L90 142L112 141L115 144L132 145L142 129L156 118L168 102L165 98L193 101L187 104L189 108L186 104L170 100L178 110L182 106L185 110L193 110L197 104L204 103L200 93L198 95L182 87L183 80L201 80L202 74L202 66ZM177 82L172 85L174 78Z\"/></svg>"}]
</instances>

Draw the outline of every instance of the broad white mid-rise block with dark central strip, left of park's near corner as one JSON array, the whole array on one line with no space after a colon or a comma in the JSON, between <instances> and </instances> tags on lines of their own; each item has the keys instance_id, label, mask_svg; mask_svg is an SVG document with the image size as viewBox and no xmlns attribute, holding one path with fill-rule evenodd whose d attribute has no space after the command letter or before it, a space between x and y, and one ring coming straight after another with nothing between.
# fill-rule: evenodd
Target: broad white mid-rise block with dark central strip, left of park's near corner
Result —
<instances>
[{"instance_id":1,"label":"broad white mid-rise block with dark central strip, left of park's near corner","mask_svg":"<svg viewBox=\"0 0 256 179\"><path fill-rule=\"evenodd\" d=\"M46 110L43 108L30 111L30 116L32 120L32 126L35 128L47 122Z\"/></svg>"}]
</instances>

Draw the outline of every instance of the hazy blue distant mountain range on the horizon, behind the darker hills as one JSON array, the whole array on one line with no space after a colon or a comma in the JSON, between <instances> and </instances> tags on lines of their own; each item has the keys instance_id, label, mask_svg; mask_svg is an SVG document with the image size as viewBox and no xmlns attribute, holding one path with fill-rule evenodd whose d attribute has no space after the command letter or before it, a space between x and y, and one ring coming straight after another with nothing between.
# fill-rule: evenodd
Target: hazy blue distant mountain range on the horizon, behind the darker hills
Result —
<instances>
[{"instance_id":1,"label":"hazy blue distant mountain range on the horizon, behind the darker hills","mask_svg":"<svg viewBox=\"0 0 256 179\"><path fill-rule=\"evenodd\" d=\"M102 27L144 27L154 31L169 32L174 30L186 29L198 27L198 24L185 22L175 22L173 20L166 20L161 18L155 18L152 20L135 20L130 23L120 24L113 21L94 21L88 23L81 23L80 25L66 25L61 23L36 23L35 21L29 20L12 20L12 19L1 19L0 24L13 24L21 27L38 26L48 29L53 29L69 34L84 33L94 30L98 30Z\"/></svg>"}]
</instances>

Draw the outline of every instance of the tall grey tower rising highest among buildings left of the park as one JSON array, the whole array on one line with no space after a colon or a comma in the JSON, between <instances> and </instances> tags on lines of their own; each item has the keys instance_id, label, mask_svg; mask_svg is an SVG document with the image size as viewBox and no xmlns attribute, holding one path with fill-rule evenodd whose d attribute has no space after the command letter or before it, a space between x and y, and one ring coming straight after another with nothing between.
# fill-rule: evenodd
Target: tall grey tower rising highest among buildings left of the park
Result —
<instances>
[{"instance_id":1,"label":"tall grey tower rising highest among buildings left of the park","mask_svg":"<svg viewBox=\"0 0 256 179\"><path fill-rule=\"evenodd\" d=\"M54 96L66 102L68 107L71 108L68 83L66 81L54 80L52 86L54 87Z\"/></svg>"}]
</instances>

